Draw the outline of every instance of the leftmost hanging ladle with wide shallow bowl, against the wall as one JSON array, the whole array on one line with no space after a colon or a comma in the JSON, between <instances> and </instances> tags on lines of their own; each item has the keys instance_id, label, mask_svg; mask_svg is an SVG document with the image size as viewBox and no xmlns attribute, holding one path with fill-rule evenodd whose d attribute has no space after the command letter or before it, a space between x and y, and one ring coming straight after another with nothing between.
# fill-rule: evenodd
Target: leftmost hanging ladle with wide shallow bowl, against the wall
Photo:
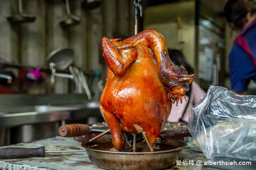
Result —
<instances>
[{"instance_id":1,"label":"leftmost hanging ladle with wide shallow bowl, against the wall","mask_svg":"<svg viewBox=\"0 0 256 170\"><path fill-rule=\"evenodd\" d=\"M36 17L32 16L32 15L28 15L28 14L23 14L23 10L22 10L22 0L18 0L18 6L19 6L19 14L18 15L14 15L14 16L10 16L7 17L7 19L10 22L18 22L18 23L22 23L22 22L34 22Z\"/></svg>"}]
</instances>

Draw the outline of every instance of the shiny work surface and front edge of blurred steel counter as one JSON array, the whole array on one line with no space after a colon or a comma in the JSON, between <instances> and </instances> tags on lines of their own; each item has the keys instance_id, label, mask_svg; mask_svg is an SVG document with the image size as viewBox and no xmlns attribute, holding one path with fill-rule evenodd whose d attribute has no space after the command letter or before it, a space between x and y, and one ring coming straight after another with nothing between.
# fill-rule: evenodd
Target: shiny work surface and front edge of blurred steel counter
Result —
<instances>
[{"instance_id":1,"label":"shiny work surface and front edge of blurred steel counter","mask_svg":"<svg viewBox=\"0 0 256 170\"><path fill-rule=\"evenodd\" d=\"M18 106L0 109L0 128L24 124L100 117L99 101L65 106Z\"/></svg>"}]
</instances>

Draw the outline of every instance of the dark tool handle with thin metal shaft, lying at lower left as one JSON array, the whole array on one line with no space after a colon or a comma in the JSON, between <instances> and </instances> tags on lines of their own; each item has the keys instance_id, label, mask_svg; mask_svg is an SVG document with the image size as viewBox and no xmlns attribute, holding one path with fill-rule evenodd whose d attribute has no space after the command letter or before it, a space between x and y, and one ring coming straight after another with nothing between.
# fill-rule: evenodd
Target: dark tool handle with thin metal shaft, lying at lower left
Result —
<instances>
[{"instance_id":1,"label":"dark tool handle with thin metal shaft, lying at lower left","mask_svg":"<svg viewBox=\"0 0 256 170\"><path fill-rule=\"evenodd\" d=\"M28 157L45 157L45 147L39 148L0 148L0 159L15 159Z\"/></svg>"}]
</instances>

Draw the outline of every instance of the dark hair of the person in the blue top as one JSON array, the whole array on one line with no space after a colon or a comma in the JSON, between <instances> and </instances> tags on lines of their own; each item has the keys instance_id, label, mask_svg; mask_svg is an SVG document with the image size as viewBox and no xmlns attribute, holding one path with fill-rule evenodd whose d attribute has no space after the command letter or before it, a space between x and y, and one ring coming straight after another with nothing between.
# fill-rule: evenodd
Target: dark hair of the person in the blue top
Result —
<instances>
[{"instance_id":1,"label":"dark hair of the person in the blue top","mask_svg":"<svg viewBox=\"0 0 256 170\"><path fill-rule=\"evenodd\" d=\"M224 7L224 14L229 23L233 23L236 29L242 30L248 21L247 14L256 13L255 1L229 0Z\"/></svg>"}]
</instances>

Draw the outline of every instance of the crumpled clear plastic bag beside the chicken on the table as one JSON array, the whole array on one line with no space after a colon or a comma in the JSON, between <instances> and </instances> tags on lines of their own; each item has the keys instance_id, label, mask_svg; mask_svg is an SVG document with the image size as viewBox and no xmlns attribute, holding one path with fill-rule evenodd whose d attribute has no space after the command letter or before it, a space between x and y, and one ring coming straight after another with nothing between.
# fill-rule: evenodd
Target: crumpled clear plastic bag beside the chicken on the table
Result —
<instances>
[{"instance_id":1,"label":"crumpled clear plastic bag beside the chicken on the table","mask_svg":"<svg viewBox=\"0 0 256 170\"><path fill-rule=\"evenodd\" d=\"M192 107L188 130L206 158L256 160L256 96L210 86Z\"/></svg>"}]
</instances>

